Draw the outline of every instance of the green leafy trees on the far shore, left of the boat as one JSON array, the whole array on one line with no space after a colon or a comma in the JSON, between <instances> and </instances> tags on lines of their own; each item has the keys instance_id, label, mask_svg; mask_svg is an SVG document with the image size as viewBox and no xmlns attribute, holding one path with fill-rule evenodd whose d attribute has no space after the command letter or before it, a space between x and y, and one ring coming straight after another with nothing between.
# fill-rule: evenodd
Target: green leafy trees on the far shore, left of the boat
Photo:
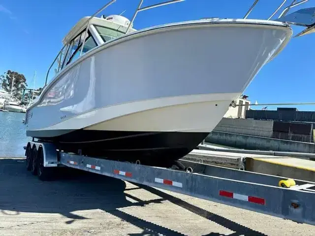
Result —
<instances>
[{"instance_id":1,"label":"green leafy trees on the far shore, left of the boat","mask_svg":"<svg viewBox=\"0 0 315 236\"><path fill-rule=\"evenodd\" d=\"M18 73L12 70L7 70L0 76L0 85L3 90L9 93L12 92L12 95L18 98L19 100L22 99L23 90L28 87L25 76L21 73ZM36 98L36 96L39 96L42 90L43 90L42 88L35 89L33 99ZM29 98L32 96L31 94L32 94L32 91L29 90L28 92L25 92L24 97L27 100L29 100Z\"/></svg>"}]
</instances>

